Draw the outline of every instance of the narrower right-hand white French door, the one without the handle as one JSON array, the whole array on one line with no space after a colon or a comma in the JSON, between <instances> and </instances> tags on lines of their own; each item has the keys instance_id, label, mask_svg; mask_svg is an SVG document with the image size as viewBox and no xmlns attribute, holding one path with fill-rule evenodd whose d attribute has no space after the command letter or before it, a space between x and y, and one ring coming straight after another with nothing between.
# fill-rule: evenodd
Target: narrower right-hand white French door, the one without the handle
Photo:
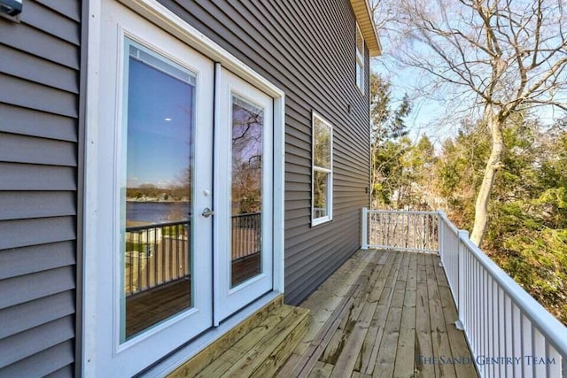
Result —
<instances>
[{"instance_id":1,"label":"narrower right-hand white French door, the one without the handle","mask_svg":"<svg viewBox=\"0 0 567 378\"><path fill-rule=\"evenodd\" d=\"M273 99L216 69L214 325L273 282Z\"/></svg>"}]
</instances>

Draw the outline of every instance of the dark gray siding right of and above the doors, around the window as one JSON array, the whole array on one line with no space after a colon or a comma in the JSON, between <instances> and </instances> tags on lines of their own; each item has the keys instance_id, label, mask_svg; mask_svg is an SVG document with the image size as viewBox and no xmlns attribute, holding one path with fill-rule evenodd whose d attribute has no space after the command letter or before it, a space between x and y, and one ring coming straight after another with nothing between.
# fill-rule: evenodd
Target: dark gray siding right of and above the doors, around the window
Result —
<instances>
[{"instance_id":1,"label":"dark gray siding right of and above the doors, around the window","mask_svg":"<svg viewBox=\"0 0 567 378\"><path fill-rule=\"evenodd\" d=\"M358 249L369 204L369 96L355 84L351 5L159 1L285 91L285 291L298 304ZM333 220L312 228L314 111L333 126L334 173Z\"/></svg>"}]
</instances>

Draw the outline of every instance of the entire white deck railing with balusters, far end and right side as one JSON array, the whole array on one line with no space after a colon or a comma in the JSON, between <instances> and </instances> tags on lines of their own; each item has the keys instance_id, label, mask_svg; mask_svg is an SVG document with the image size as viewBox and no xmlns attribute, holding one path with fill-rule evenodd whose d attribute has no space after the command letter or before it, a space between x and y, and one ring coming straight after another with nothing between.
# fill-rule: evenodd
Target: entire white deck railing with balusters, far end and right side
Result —
<instances>
[{"instance_id":1,"label":"entire white deck railing with balusters, far end and right side","mask_svg":"<svg viewBox=\"0 0 567 378\"><path fill-rule=\"evenodd\" d=\"M439 253L457 307L456 326L481 376L567 377L567 328L443 212L364 208L361 245Z\"/></svg>"}]
</instances>

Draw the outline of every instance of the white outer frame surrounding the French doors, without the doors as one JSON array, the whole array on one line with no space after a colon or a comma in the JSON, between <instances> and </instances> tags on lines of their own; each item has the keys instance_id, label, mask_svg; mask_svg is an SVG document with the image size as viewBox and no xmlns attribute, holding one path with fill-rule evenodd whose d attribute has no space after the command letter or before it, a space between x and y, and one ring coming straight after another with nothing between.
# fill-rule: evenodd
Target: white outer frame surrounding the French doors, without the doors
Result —
<instances>
[{"instance_id":1,"label":"white outer frame surrounding the French doors, without the doors","mask_svg":"<svg viewBox=\"0 0 567 378\"><path fill-rule=\"evenodd\" d=\"M98 127L100 126L99 108L99 70L104 69L100 64L100 57L106 51L101 46L101 6L105 0L89 0L89 30L88 30L88 56L87 62L87 109L86 109L86 132L85 132L85 185L84 195L84 217L83 217L83 292L82 292L82 374L85 376L101 376L105 374L102 366L101 351L97 345L100 329L97 328L97 309L105 306L97 302L99 283L97 282L97 271L99 261L97 258L97 240L99 230L97 228L98 210L100 201L96 184L99 179L99 170L104 166L101 164L105 157L99 151L98 144L101 142L98 137ZM160 27L170 35L174 35L178 40L184 42L201 54L220 62L222 66L236 73L239 77L248 81L255 87L261 89L269 96L274 98L274 214L273 214L273 243L274 243L274 294L283 293L283 189L284 189L284 93L266 80L259 73L256 73L239 61L228 51L222 49L218 44L202 35L197 29L191 27L183 19L169 11L165 6L153 0L118 0L126 5L131 11L136 12L144 19L150 20L154 25ZM247 306L242 312L227 320L219 328L208 331L205 335L186 345L178 351L175 356L167 359L169 364L178 364L183 359L197 353L208 343L222 336L229 328L234 327L242 316L252 314L262 305L266 304L274 295L260 298L252 305ZM107 304L106 304L107 305ZM167 343L164 341L163 343ZM152 361L145 361L147 366ZM129 366L130 369L139 371L136 366ZM156 367L159 368L159 367ZM171 371L171 366L162 366L161 371Z\"/></svg>"}]
</instances>

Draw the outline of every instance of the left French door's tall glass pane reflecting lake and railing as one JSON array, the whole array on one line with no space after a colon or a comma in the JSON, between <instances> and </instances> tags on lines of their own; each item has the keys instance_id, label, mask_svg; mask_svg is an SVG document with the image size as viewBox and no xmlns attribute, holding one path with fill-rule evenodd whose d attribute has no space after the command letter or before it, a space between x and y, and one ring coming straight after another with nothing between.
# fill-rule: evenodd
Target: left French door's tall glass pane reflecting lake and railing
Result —
<instances>
[{"instance_id":1,"label":"left French door's tall glass pane reflecting lake and railing","mask_svg":"<svg viewBox=\"0 0 567 378\"><path fill-rule=\"evenodd\" d=\"M191 306L195 77L140 49L126 70L121 341Z\"/></svg>"}]
</instances>

